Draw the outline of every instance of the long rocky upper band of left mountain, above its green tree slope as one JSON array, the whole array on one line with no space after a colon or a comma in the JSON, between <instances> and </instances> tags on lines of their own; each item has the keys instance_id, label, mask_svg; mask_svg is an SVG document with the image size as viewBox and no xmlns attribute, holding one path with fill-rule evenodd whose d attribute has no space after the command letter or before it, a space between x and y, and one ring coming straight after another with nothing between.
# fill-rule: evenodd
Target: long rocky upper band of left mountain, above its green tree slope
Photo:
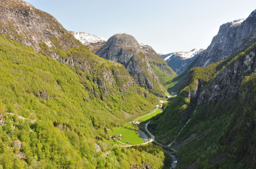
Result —
<instances>
[{"instance_id":1,"label":"long rocky upper band of left mountain, above its green tree slope","mask_svg":"<svg viewBox=\"0 0 256 169\"><path fill-rule=\"evenodd\" d=\"M123 71L118 71L117 67L121 65L102 60L86 50L83 44L64 29L52 15L36 9L23 0L0 0L0 2L0 33L5 38L15 40L24 46L32 46L35 51L68 66L77 67L88 74L96 72L97 77L91 80L95 84L106 81L109 85L99 87L105 94L110 92L109 87L116 88L115 79L124 78L124 74L128 79L124 88L134 86L132 77L124 68L121 68ZM113 69L106 68L106 65L113 65ZM101 79L98 77L99 74ZM86 84L84 86L86 88Z\"/></svg>"}]
</instances>

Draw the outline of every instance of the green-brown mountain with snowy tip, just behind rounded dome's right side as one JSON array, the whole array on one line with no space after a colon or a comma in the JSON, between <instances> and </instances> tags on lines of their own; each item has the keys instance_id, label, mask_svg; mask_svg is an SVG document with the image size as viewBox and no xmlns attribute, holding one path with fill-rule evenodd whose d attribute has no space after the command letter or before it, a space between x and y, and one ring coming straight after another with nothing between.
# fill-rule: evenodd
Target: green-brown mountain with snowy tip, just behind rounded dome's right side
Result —
<instances>
[{"instance_id":1,"label":"green-brown mountain with snowy tip, just behind rounded dome's right side","mask_svg":"<svg viewBox=\"0 0 256 169\"><path fill-rule=\"evenodd\" d=\"M140 46L146 54L149 65L153 69L155 74L163 75L165 73L166 77L163 81L163 84L165 83L165 81L169 81L176 76L176 73L172 70L172 68L167 65L163 58L161 58L161 56L157 54L151 46L145 44L140 44Z\"/></svg>"}]
</instances>

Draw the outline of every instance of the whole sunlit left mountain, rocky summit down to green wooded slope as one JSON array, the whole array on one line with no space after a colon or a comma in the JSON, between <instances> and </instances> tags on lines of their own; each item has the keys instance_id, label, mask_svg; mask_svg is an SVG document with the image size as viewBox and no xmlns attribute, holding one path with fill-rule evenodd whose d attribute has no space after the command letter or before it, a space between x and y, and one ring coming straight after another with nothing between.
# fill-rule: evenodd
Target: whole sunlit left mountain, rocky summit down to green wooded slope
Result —
<instances>
[{"instance_id":1,"label":"whole sunlit left mountain, rocky summit down to green wooded slope","mask_svg":"<svg viewBox=\"0 0 256 169\"><path fill-rule=\"evenodd\" d=\"M134 95L145 89L123 65L88 51L52 15L22 0L0 4L0 168L170 168L157 146L109 140L154 109L155 95Z\"/></svg>"}]
</instances>

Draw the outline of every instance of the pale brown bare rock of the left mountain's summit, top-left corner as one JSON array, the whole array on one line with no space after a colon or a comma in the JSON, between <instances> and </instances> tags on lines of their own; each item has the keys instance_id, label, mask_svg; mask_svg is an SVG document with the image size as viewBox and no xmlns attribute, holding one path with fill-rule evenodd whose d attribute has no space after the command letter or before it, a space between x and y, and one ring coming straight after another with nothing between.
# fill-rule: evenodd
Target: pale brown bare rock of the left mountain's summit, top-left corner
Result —
<instances>
[{"instance_id":1,"label":"pale brown bare rock of the left mountain's summit, top-left corner","mask_svg":"<svg viewBox=\"0 0 256 169\"><path fill-rule=\"evenodd\" d=\"M52 15L22 0L1 0L0 21L1 34L25 46L33 46L37 52L42 49L39 44L43 43L50 50L61 48L65 51L68 47L79 47L76 39ZM56 41L62 45L56 45ZM54 52L45 54L59 58Z\"/></svg>"}]
</instances>

